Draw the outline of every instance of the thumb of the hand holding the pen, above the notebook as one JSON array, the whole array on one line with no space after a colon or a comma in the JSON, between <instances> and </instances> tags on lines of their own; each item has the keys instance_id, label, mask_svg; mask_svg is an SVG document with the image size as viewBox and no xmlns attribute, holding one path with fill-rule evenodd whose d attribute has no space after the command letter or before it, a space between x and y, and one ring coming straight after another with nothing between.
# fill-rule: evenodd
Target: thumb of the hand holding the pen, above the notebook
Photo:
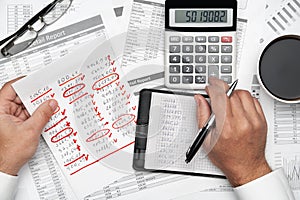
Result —
<instances>
[{"instance_id":1,"label":"thumb of the hand holding the pen, above the notebook","mask_svg":"<svg viewBox=\"0 0 300 200\"><path fill-rule=\"evenodd\" d=\"M202 128L210 116L210 106L202 95L195 95L194 98L197 103L198 126Z\"/></svg>"}]
</instances>

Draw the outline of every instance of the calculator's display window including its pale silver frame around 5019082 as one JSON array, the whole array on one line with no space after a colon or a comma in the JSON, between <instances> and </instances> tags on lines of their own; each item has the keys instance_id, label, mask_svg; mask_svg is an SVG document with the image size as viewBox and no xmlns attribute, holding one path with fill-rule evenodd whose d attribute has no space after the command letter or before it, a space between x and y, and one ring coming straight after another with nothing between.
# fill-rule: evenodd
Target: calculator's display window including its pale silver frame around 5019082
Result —
<instances>
[{"instance_id":1,"label":"calculator's display window including its pale silver frame around 5019082","mask_svg":"<svg viewBox=\"0 0 300 200\"><path fill-rule=\"evenodd\" d=\"M233 26L233 9L170 9L171 27L231 27Z\"/></svg>"}]
</instances>

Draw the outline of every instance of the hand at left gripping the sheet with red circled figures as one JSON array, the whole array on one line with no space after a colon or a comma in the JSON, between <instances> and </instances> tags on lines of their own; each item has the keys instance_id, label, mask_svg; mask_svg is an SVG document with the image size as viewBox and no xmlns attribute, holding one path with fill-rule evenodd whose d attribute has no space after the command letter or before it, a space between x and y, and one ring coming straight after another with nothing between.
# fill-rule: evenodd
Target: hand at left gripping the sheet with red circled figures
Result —
<instances>
[{"instance_id":1,"label":"hand at left gripping the sheet with red circled figures","mask_svg":"<svg viewBox=\"0 0 300 200\"><path fill-rule=\"evenodd\" d=\"M48 100L30 117L11 86L17 80L0 90L0 171L10 175L17 175L34 155L42 129L58 106Z\"/></svg>"}]
</instances>

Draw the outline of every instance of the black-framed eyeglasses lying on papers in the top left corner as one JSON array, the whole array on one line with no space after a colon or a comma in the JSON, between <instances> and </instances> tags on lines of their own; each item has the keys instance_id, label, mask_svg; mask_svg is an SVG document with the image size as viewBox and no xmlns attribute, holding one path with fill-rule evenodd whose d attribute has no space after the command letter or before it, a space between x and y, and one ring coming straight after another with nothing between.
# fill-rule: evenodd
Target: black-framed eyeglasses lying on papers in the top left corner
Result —
<instances>
[{"instance_id":1,"label":"black-framed eyeglasses lying on papers in the top left corner","mask_svg":"<svg viewBox=\"0 0 300 200\"><path fill-rule=\"evenodd\" d=\"M38 38L39 33L60 19L70 8L73 0L54 0L33 16L17 32L0 41L4 57L9 57L27 49Z\"/></svg>"}]
</instances>

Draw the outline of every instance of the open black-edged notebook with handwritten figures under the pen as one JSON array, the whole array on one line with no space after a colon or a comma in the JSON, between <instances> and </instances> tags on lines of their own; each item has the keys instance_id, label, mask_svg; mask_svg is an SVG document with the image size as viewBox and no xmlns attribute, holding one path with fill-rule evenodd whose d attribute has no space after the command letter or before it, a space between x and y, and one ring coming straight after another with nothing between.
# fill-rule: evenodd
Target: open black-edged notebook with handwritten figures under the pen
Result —
<instances>
[{"instance_id":1,"label":"open black-edged notebook with handwritten figures under the pen","mask_svg":"<svg viewBox=\"0 0 300 200\"><path fill-rule=\"evenodd\" d=\"M194 94L144 89L140 92L133 168L224 177L200 150L185 163L197 132Z\"/></svg>"}]
</instances>

